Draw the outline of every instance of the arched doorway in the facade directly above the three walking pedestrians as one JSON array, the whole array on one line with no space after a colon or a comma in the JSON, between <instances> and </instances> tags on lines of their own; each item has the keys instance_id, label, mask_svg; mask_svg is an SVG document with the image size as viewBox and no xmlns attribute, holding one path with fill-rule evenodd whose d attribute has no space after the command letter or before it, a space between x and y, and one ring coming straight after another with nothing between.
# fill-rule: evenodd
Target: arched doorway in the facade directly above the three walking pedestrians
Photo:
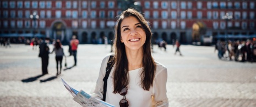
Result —
<instances>
[{"instance_id":1,"label":"arched doorway in the facade directly above the three walking pedestrians","mask_svg":"<svg viewBox=\"0 0 256 107\"><path fill-rule=\"evenodd\" d=\"M53 24L51 38L61 40L61 42L67 42L66 27L62 22L55 22L55 24Z\"/></svg>"}]
</instances>

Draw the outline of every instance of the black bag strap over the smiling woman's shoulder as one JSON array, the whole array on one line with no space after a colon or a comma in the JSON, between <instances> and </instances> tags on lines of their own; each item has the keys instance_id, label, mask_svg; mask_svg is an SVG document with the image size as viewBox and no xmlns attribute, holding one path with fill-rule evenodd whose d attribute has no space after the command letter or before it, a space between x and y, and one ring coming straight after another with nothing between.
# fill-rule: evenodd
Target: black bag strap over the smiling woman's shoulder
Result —
<instances>
[{"instance_id":1,"label":"black bag strap over the smiling woman's shoulder","mask_svg":"<svg viewBox=\"0 0 256 107\"><path fill-rule=\"evenodd\" d=\"M106 92L107 92L107 78L108 76L110 76L110 71L113 67L113 60L111 60L113 58L113 55L110 55L110 59L108 59L107 62L107 67L106 67L106 75L103 78L104 81L104 87L103 87L103 99L104 101L106 101Z\"/></svg>"}]
</instances>

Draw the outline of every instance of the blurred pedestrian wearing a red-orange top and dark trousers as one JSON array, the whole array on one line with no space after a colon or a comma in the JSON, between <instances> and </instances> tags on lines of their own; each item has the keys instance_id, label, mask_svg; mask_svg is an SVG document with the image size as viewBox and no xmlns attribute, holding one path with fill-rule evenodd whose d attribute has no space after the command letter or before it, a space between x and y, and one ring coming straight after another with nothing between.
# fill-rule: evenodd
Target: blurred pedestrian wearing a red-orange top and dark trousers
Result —
<instances>
[{"instance_id":1,"label":"blurred pedestrian wearing a red-orange top and dark trousers","mask_svg":"<svg viewBox=\"0 0 256 107\"><path fill-rule=\"evenodd\" d=\"M72 50L72 54L74 56L74 66L77 66L77 48L78 48L79 41L77 40L77 36L73 35L72 40L70 41L70 46Z\"/></svg>"}]
</instances>

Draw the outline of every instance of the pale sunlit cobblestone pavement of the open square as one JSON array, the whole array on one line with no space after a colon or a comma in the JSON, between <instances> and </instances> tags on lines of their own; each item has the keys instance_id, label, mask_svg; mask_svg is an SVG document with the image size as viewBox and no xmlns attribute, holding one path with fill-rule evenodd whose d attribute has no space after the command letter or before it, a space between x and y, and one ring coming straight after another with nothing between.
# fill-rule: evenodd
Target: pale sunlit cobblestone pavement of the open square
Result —
<instances>
[{"instance_id":1,"label":"pale sunlit cobblestone pavement of the open square","mask_svg":"<svg viewBox=\"0 0 256 107\"><path fill-rule=\"evenodd\" d=\"M102 59L110 46L80 44L78 64L56 75L55 54L50 55L49 74L41 76L39 49L23 44L0 47L0 106L80 106L64 88L61 77L75 89L91 92ZM52 49L52 46L50 47ZM64 46L66 55L68 46ZM170 106L256 106L256 63L219 60L213 46L154 46L154 58L167 67ZM67 66L74 64L67 57ZM64 67L64 63L63 63Z\"/></svg>"}]
</instances>

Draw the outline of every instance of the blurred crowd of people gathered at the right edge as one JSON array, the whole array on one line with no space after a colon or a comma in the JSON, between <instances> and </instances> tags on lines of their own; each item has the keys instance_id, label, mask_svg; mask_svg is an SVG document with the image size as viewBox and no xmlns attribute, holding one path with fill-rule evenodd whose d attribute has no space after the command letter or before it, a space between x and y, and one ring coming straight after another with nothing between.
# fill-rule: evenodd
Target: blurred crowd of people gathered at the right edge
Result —
<instances>
[{"instance_id":1,"label":"blurred crowd of people gathered at the right edge","mask_svg":"<svg viewBox=\"0 0 256 107\"><path fill-rule=\"evenodd\" d=\"M215 50L218 50L219 59L226 58L235 61L256 61L256 41L217 41Z\"/></svg>"}]
</instances>

